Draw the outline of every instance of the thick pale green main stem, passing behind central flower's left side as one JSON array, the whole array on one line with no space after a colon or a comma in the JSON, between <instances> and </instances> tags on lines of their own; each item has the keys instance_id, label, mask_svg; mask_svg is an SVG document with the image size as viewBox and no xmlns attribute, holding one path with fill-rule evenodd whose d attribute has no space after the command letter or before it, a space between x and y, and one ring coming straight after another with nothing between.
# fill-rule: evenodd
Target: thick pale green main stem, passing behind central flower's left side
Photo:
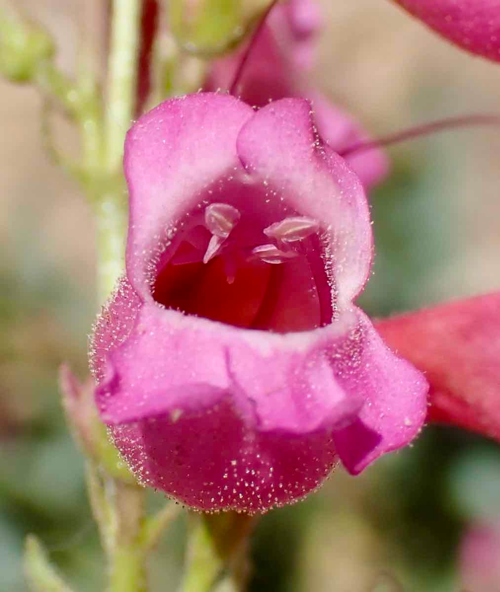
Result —
<instances>
[{"instance_id":1,"label":"thick pale green main stem, passing behind central flower's left side","mask_svg":"<svg viewBox=\"0 0 500 592\"><path fill-rule=\"evenodd\" d=\"M141 0L113 2L104 141L98 142L99 136L92 127L98 122L95 117L89 117L82 126L84 147L88 153L88 191L94 195L96 208L98 293L101 301L113 290L124 267L126 192L121 175L121 158L136 97L141 7ZM92 78L85 78L85 71L81 79L84 82L88 80L89 91L95 88ZM91 160L92 154L96 156L95 161ZM94 168L94 165L98 166ZM108 539L104 543L110 562L107 592L146 592L146 552L142 544L146 492L137 484L129 484L110 475L103 478L102 491L109 519L103 530Z\"/></svg>"}]
</instances>

